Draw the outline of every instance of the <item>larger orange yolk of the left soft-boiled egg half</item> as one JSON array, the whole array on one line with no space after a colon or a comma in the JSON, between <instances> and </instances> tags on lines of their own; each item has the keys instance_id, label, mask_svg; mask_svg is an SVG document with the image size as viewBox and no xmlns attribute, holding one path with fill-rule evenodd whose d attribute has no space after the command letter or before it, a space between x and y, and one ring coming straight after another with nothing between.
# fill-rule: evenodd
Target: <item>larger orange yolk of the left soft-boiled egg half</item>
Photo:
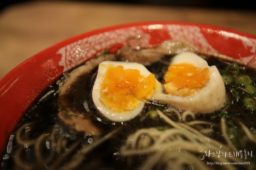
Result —
<instances>
[{"instance_id":1,"label":"larger orange yolk of the left soft-boiled egg half","mask_svg":"<svg viewBox=\"0 0 256 170\"><path fill-rule=\"evenodd\" d=\"M100 101L112 111L130 111L153 95L155 85L152 73L145 78L140 70L109 65L100 86Z\"/></svg>"}]
</instances>

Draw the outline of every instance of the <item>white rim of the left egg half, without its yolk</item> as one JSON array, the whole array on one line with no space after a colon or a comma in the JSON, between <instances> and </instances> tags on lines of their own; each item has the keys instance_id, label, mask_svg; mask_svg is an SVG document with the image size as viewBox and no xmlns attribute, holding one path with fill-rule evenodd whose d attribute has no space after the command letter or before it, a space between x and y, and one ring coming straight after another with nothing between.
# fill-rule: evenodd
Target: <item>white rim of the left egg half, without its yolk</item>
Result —
<instances>
[{"instance_id":1,"label":"white rim of the left egg half, without its yolk","mask_svg":"<svg viewBox=\"0 0 256 170\"><path fill-rule=\"evenodd\" d=\"M100 101L100 85L103 81L103 78L106 75L106 71L108 69L107 65L113 65L115 67L118 65L122 65L124 66L124 70L125 69L140 70L140 74L143 75L145 78L148 77L148 75L150 74L150 71L148 71L148 69L144 65L139 63L132 63L132 62L104 61L99 65L97 78L92 88L92 100L94 102L94 105L103 116L105 116L107 119L113 122L125 122L128 120L131 120L132 118L140 114L141 110L145 105L143 101L140 101L139 107L126 112L111 111L107 107L105 107L105 105ZM156 80L156 84L157 84L157 91L160 91L161 85L157 80Z\"/></svg>"}]
</instances>

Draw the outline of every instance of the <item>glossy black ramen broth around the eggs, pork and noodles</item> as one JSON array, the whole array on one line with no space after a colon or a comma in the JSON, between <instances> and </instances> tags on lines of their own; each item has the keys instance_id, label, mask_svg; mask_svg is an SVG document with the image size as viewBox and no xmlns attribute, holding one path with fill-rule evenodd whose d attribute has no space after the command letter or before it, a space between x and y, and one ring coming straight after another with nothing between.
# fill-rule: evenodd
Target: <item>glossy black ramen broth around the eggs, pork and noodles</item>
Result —
<instances>
[{"instance_id":1,"label":"glossy black ramen broth around the eggs, pork and noodles","mask_svg":"<svg viewBox=\"0 0 256 170\"><path fill-rule=\"evenodd\" d=\"M167 70L168 68L167 63L170 61L171 57L172 56L165 56L163 57L162 60L152 63L150 66L147 66L148 70L152 72L160 82L164 81L163 75L165 70ZM216 65L220 71L226 70L229 64L227 61L222 61L220 59L216 59L213 57L205 57L205 59L210 66ZM164 103L149 101L149 103L145 105L144 110L142 111L140 116L137 116L136 118L124 123L109 122L108 120L105 120L104 118L100 117L100 115L97 113L93 106L91 97L88 97L91 96L91 88L93 85L96 72L97 70L94 70L90 74L82 75L81 78L79 78L78 82L72 87L70 87L70 89L72 89L72 98L70 99L70 105L72 107L75 107L81 113L93 115L92 118L95 119L94 121L97 121L97 118L101 118L102 122L99 123L104 124L108 131L111 131L118 127L121 127L121 129L113 137L110 137L108 140L100 144L98 147L94 148L92 151L85 154L83 161L81 162L81 164L76 166L75 169L136 169L141 163L143 163L146 160L147 155L122 157L118 152L119 148L122 145L124 145L127 136L134 133L137 129L149 127L168 127L169 125L160 118L150 119L147 116L148 110L154 109L156 107L159 109L163 109L167 106ZM240 67L239 74L248 75L250 78L252 78L252 84L255 86L254 81L256 80L256 73L254 70L251 70L246 67ZM47 169L48 167L51 167L51 165L53 165L54 163L58 162L58 159L61 159L61 162L69 162L70 160L74 159L73 157L76 153L76 150L79 150L79 148L82 148L85 145L90 145L92 141L97 141L97 137L93 137L85 133L76 133L75 131L72 130L70 131L68 127L65 127L65 125L59 123L59 108L57 104L58 88L59 86L56 83L49 86L47 91L44 92L44 95L42 95L41 99L38 100L38 102L36 102L33 105L33 107L31 107L24 114L24 117L22 118L21 122L19 122L17 128L14 130L12 135L15 136L17 129L19 129L23 124L35 121L35 126L31 126L29 131L24 133L24 136L30 139L34 139L39 137L44 132L50 134L53 131L53 129L57 129L56 140L57 138L63 138L63 140L67 140L67 150L69 149L69 147L72 146L72 144L76 143L76 141L79 141L79 144L76 146L76 149L74 149L73 152L69 153L67 157L63 158L62 154L66 153L64 151L62 151L61 153L55 153L52 157L52 160L49 161L47 165L42 165L42 167L36 167L36 169ZM234 94L234 89L237 90L238 94ZM255 133L255 130L253 130L256 129L255 111L246 109L244 107L242 100L246 96L244 96L245 94L243 91L240 91L236 88L235 83L226 85L226 93L228 97L227 102L230 103L230 106L226 108L225 113L223 113L223 110L220 110L211 114L196 115L196 120L205 120L212 123L219 123L220 117L224 115L227 120L227 126L229 127L228 130L233 132L233 134L237 135L232 139L232 142L236 145L238 150L252 151L252 154L254 154L256 152L255 143L252 143L250 141L243 141L240 138L241 135L244 134L244 131L239 126L237 126L236 120L239 119L240 121L242 121L244 124L246 124L246 126L249 129L251 129L252 132ZM237 95L239 97L237 97ZM86 113L86 110L84 108L84 99L86 99L90 107L89 113ZM180 112L182 112L182 110L180 110ZM172 116L171 119L175 120L176 118ZM215 128L214 132L209 133L208 136L225 143L221 136L219 127ZM31 162L33 163L37 162L37 160L35 160L35 153L33 147L19 145L15 140L15 137L13 140L12 152L10 155L7 154L10 156L10 158L6 158L5 155L2 161L1 168L3 170L22 169L22 167L20 167L14 161L15 152L17 152L17 150L19 150L20 148L22 148L21 153L23 153L22 156L20 156L21 160L32 160ZM47 144L49 144L49 142L47 143L47 140L46 144L42 144L42 152L44 152L44 155L42 156L43 158L46 158L51 154L52 148L49 146L45 146ZM205 160L205 164L206 161L207 159ZM250 161L251 164L254 164L255 155L253 155L252 157L248 157L248 160L246 161ZM53 167L59 168L61 167L61 165L57 164ZM217 167L221 168L221 166L216 166L216 168ZM237 165L236 167L238 169L246 169L246 167L243 165Z\"/></svg>"}]
</instances>

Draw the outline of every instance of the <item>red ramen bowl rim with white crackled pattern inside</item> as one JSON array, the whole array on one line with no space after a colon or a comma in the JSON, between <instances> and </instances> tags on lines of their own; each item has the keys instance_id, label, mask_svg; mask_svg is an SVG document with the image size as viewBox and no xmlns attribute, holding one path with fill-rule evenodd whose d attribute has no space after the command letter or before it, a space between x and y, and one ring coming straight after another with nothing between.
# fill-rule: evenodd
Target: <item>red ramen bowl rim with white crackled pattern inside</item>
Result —
<instances>
[{"instance_id":1,"label":"red ramen bowl rim with white crackled pattern inside","mask_svg":"<svg viewBox=\"0 0 256 170\"><path fill-rule=\"evenodd\" d=\"M141 35L139 44L133 44L131 37L138 35ZM0 156L3 156L8 138L23 113L63 72L92 58L104 47L112 47L115 52L127 43L154 47L165 40L185 40L198 51L256 68L256 36L218 26L143 22L71 37L30 57L0 80Z\"/></svg>"}]
</instances>

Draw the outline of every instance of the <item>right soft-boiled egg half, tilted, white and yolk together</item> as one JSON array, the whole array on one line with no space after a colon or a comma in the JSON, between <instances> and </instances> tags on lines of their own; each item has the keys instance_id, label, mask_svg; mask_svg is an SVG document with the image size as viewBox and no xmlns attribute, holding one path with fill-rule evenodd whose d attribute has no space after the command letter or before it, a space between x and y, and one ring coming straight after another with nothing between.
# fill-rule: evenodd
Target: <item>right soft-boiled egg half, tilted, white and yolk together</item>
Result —
<instances>
[{"instance_id":1,"label":"right soft-boiled egg half, tilted, white and yolk together","mask_svg":"<svg viewBox=\"0 0 256 170\"><path fill-rule=\"evenodd\" d=\"M175 55L164 78L164 93L154 94L155 100L197 113L211 113L225 102L225 85L217 67L208 66L192 52Z\"/></svg>"}]
</instances>

